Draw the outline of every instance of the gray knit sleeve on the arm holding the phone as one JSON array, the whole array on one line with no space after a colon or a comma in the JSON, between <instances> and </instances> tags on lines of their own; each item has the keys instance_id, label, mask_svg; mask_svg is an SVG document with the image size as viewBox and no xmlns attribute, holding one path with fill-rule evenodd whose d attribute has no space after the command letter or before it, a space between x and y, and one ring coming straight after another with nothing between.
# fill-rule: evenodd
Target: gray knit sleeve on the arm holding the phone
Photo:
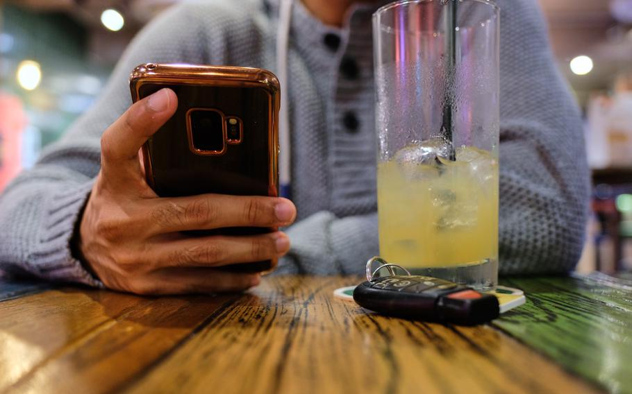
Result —
<instances>
[{"instance_id":1,"label":"gray knit sleeve on the arm holding the phone","mask_svg":"<svg viewBox=\"0 0 632 394\"><path fill-rule=\"evenodd\" d=\"M99 173L101 134L131 105L128 77L134 67L144 62L205 62L207 46L200 42L210 47L222 37L211 41L182 37L183 32L194 36L195 26L201 23L194 8L176 7L144 28L92 109L63 139L44 150L33 169L8 185L0 196L1 270L100 285L73 257L70 241Z\"/></svg>"}]
</instances>

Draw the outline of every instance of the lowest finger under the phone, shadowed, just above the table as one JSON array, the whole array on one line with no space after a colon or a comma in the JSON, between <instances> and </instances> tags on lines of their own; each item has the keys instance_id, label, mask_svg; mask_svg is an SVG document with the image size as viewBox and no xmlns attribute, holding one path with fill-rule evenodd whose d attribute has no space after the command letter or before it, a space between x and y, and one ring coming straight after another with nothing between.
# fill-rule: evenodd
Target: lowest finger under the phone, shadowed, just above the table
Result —
<instances>
[{"instance_id":1,"label":"lowest finger under the phone, shadowed, just above the table","mask_svg":"<svg viewBox=\"0 0 632 394\"><path fill-rule=\"evenodd\" d=\"M133 293L147 295L226 293L243 291L261 281L258 273L231 273L208 268L174 268L158 271L133 284Z\"/></svg>"}]
</instances>

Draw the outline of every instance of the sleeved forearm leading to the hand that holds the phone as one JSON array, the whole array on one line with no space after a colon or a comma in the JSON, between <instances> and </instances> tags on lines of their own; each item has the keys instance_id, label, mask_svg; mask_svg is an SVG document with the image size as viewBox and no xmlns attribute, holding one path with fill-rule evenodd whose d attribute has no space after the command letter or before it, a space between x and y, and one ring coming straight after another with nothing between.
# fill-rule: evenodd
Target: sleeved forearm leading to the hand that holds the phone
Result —
<instances>
[{"instance_id":1,"label":"sleeved forearm leading to the hand that holds the phone","mask_svg":"<svg viewBox=\"0 0 632 394\"><path fill-rule=\"evenodd\" d=\"M98 286L69 247L92 181L64 172L41 166L0 198L0 268Z\"/></svg>"}]
</instances>

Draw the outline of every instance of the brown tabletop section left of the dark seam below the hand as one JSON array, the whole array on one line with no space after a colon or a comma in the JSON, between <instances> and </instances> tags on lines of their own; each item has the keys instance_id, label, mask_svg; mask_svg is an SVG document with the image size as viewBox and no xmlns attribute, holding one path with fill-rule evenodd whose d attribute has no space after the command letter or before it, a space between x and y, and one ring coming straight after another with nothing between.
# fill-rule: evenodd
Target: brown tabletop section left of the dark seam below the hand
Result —
<instances>
[{"instance_id":1,"label":"brown tabletop section left of the dark seam below the hand","mask_svg":"<svg viewBox=\"0 0 632 394\"><path fill-rule=\"evenodd\" d=\"M0 392L116 391L236 298L60 289L1 302Z\"/></svg>"}]
</instances>

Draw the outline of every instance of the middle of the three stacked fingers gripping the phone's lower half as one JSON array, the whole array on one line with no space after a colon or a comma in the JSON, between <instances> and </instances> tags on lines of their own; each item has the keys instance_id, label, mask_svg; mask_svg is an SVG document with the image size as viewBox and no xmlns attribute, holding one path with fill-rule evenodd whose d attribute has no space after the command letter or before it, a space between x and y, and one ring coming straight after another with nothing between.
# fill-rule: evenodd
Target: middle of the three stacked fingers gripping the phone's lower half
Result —
<instances>
[{"instance_id":1,"label":"middle of the three stacked fingers gripping the phone's lower half","mask_svg":"<svg viewBox=\"0 0 632 394\"><path fill-rule=\"evenodd\" d=\"M148 260L160 268L213 268L276 259L290 250L283 232L251 237L205 237L158 243Z\"/></svg>"}]
</instances>

